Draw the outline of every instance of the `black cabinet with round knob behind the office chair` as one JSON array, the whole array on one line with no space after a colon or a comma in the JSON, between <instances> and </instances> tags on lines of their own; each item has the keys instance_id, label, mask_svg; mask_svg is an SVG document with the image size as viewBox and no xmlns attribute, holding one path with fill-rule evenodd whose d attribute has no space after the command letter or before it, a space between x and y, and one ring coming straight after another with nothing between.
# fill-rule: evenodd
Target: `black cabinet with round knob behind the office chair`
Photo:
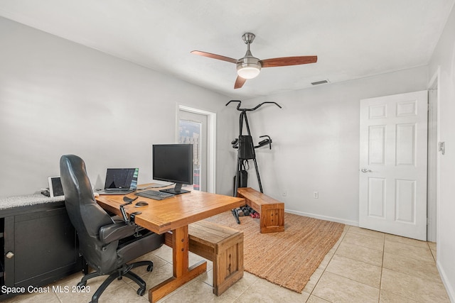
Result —
<instances>
[{"instance_id":1,"label":"black cabinet with round knob behind the office chair","mask_svg":"<svg viewBox=\"0 0 455 303\"><path fill-rule=\"evenodd\" d=\"M45 286L81 270L64 202L0 210L0 236L0 300L5 287Z\"/></svg>"}]
</instances>

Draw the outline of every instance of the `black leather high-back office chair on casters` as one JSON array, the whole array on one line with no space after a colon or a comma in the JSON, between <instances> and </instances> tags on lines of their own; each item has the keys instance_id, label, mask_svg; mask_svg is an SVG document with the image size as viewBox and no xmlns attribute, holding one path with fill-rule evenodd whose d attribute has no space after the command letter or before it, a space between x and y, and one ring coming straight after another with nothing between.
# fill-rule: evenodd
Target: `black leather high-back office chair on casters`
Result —
<instances>
[{"instance_id":1,"label":"black leather high-back office chair on casters","mask_svg":"<svg viewBox=\"0 0 455 303\"><path fill-rule=\"evenodd\" d=\"M127 263L160 248L164 243L164 235L139 228L129 221L114 221L95 201L85 163L76 155L63 155L60 158L60 178L66 210L79 238L80 254L95 270L88 274L85 272L77 285L85 286L92 277L109 275L93 294L92 303L98 302L112 281L122 277L129 277L136 282L139 285L137 294L144 295L146 283L131 269L146 265L150 272L153 263Z\"/></svg>"}]
</instances>

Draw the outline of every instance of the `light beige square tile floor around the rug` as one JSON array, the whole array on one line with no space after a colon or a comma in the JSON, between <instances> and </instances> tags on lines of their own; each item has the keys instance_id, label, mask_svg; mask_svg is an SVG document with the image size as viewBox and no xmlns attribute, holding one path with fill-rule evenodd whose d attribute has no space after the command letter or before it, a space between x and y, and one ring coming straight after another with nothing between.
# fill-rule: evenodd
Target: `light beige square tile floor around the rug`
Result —
<instances>
[{"instance_id":1,"label":"light beige square tile floor around the rug","mask_svg":"<svg viewBox=\"0 0 455 303\"><path fill-rule=\"evenodd\" d=\"M146 272L145 267L134 272L146 280L148 287L172 275L171 248L163 246L143 258L154 261L153 272ZM216 297L210 286L212 263L208 261L208 272L159 302L450 302L435 259L435 243L346 226L301 294L245 272L240 281ZM191 264L198 260L200 257L191 254ZM54 285L71 288L80 277L75 274ZM6 302L90 302L103 280L90 280L90 293L24 294ZM115 280L99 302L147 302L147 292L139 297L136 290L135 283L127 278Z\"/></svg>"}]
</instances>

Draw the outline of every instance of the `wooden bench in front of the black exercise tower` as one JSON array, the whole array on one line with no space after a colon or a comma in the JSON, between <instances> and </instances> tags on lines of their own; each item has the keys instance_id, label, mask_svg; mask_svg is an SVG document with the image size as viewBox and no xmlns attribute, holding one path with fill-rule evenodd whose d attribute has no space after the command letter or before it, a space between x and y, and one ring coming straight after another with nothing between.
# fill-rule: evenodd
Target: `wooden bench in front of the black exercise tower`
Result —
<instances>
[{"instance_id":1,"label":"wooden bench in front of the black exercise tower","mask_svg":"<svg viewBox=\"0 0 455 303\"><path fill-rule=\"evenodd\" d=\"M260 233L284 231L284 203L257 192L251 187L240 187L237 196L244 198L252 209L259 213Z\"/></svg>"}]
</instances>

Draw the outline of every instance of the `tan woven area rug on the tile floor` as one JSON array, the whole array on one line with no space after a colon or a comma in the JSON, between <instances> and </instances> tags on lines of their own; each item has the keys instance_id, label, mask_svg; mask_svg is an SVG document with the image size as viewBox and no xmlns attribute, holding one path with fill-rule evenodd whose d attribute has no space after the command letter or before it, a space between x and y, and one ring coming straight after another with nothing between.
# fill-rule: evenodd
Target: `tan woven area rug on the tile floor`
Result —
<instances>
[{"instance_id":1,"label":"tan woven area rug on the tile floor","mask_svg":"<svg viewBox=\"0 0 455 303\"><path fill-rule=\"evenodd\" d=\"M259 219L250 216L241 216L237 224L230 211L207 220L244 232L247 272L299 293L344 228L344 224L288 213L285 230L279 233L259 233Z\"/></svg>"}]
</instances>

